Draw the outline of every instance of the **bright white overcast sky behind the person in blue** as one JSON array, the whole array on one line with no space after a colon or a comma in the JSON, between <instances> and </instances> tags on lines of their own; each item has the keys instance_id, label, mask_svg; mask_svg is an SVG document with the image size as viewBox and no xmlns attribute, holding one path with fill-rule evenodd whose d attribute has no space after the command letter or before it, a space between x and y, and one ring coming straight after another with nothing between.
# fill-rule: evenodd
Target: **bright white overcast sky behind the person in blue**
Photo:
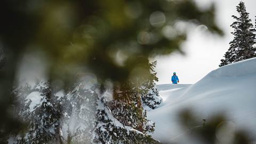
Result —
<instances>
[{"instance_id":1,"label":"bright white overcast sky behind the person in blue","mask_svg":"<svg viewBox=\"0 0 256 144\"><path fill-rule=\"evenodd\" d=\"M195 0L199 6L209 6L214 2L217 8L217 23L225 33L219 37L211 35L202 28L190 30L187 42L183 44L182 50L186 55L172 53L164 57L157 57L157 84L171 83L173 71L177 73L181 84L193 84L203 78L210 71L217 69L223 55L229 48L229 42L233 39L230 27L234 21L231 15L238 15L236 5L239 0ZM244 0L247 12L250 13L253 25L256 16L256 0Z\"/></svg>"}]
</instances>

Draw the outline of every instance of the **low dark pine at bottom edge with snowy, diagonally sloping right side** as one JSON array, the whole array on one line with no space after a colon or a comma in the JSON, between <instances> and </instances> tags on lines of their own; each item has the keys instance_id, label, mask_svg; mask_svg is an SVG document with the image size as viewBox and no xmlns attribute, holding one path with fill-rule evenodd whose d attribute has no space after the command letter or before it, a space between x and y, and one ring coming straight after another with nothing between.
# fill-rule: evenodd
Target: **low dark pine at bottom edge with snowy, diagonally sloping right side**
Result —
<instances>
[{"instance_id":1,"label":"low dark pine at bottom edge with snowy, diagonally sloping right side","mask_svg":"<svg viewBox=\"0 0 256 144\"><path fill-rule=\"evenodd\" d=\"M128 115L126 113L128 110L122 111L123 108L127 108L127 107L117 107L118 109L117 111L111 111L106 105L106 103L107 102L104 99L98 100L98 108L97 108L97 115L96 115L97 123L95 125L95 130L93 133L94 135L93 143L97 143L97 144L105 144L105 143L159 144L160 143L159 141L151 138L150 135L147 135L141 131L134 129L133 126L126 126L123 124L124 121L118 121L118 119L113 117L113 113L114 113L114 116L123 114L124 117L127 117L129 115L129 113ZM136 111L132 111L132 112L136 113ZM135 116L134 118L138 119L137 116ZM130 123L131 122L130 120L131 119L127 119L126 122ZM136 121L136 123L138 122ZM147 123L145 126L151 127L152 124Z\"/></svg>"}]
</instances>

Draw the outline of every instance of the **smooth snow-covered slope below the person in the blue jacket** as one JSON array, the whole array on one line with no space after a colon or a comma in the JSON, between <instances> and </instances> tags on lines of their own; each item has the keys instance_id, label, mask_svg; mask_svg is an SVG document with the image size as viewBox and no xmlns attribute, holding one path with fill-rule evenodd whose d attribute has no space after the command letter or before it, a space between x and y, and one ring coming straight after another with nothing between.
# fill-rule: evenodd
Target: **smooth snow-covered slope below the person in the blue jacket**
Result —
<instances>
[{"instance_id":1,"label":"smooth snow-covered slope below the person in the blue jacket","mask_svg":"<svg viewBox=\"0 0 256 144\"><path fill-rule=\"evenodd\" d=\"M177 121L183 108L193 109L202 119L225 112L235 128L256 135L256 58L213 70L193 85L164 84L158 90L164 103L148 111L148 118L156 122L153 137L162 142L186 143L186 131Z\"/></svg>"}]
</instances>

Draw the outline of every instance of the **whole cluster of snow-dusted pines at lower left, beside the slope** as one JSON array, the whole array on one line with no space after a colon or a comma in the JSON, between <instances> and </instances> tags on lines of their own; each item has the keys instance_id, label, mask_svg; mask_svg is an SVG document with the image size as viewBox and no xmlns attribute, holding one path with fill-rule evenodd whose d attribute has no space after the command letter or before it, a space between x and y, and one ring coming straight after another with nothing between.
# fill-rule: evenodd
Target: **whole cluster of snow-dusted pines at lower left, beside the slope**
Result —
<instances>
[{"instance_id":1,"label":"whole cluster of snow-dusted pines at lower left, beside the slope","mask_svg":"<svg viewBox=\"0 0 256 144\"><path fill-rule=\"evenodd\" d=\"M113 94L101 90L95 77L85 76L67 90L55 90L49 82L17 87L12 97L17 102L17 117L28 127L13 135L13 143L159 143L152 139L154 123L147 120L142 103L156 108L160 103L155 82L156 62L149 63L150 78L125 84ZM132 88L130 88L132 86ZM126 91L125 91L126 88ZM102 92L101 92L102 91ZM127 101L121 98L127 94ZM141 95L137 97L137 95ZM143 95L143 96L142 96ZM139 99L139 100L138 100ZM142 103L140 103L142 99Z\"/></svg>"}]
</instances>

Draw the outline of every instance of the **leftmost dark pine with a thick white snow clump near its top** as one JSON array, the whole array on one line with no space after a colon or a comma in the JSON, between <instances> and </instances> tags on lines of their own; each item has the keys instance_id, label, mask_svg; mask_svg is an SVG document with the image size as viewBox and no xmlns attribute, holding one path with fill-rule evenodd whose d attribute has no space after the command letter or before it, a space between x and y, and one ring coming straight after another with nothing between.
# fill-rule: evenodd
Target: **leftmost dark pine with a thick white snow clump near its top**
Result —
<instances>
[{"instance_id":1,"label":"leftmost dark pine with a thick white snow clump near its top","mask_svg":"<svg viewBox=\"0 0 256 144\"><path fill-rule=\"evenodd\" d=\"M27 129L13 137L13 143L61 143L61 118L63 103L53 97L48 82L40 82L33 89L29 86L17 90L21 100L20 118L27 122Z\"/></svg>"}]
</instances>

